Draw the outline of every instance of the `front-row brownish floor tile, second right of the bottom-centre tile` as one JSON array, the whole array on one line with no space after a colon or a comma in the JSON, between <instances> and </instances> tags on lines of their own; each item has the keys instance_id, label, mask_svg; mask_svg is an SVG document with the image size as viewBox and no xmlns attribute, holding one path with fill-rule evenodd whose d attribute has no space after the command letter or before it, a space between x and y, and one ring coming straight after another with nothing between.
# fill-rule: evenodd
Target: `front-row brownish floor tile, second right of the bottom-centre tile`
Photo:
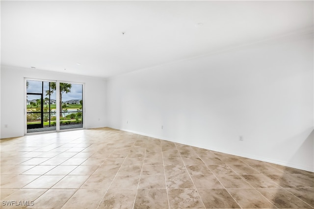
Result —
<instances>
[{"instance_id":1,"label":"front-row brownish floor tile, second right of the bottom-centre tile","mask_svg":"<svg viewBox=\"0 0 314 209\"><path fill-rule=\"evenodd\" d=\"M234 198L223 188L198 189L204 205L208 209L239 209Z\"/></svg>"}]
</instances>

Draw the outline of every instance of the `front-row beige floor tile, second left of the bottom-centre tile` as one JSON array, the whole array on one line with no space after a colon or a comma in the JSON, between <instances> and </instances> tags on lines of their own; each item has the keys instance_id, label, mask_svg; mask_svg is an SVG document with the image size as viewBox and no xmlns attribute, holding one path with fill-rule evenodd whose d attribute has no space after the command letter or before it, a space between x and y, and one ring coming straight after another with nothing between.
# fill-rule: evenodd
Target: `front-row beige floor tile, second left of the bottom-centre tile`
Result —
<instances>
[{"instance_id":1,"label":"front-row beige floor tile, second left of the bottom-centre tile","mask_svg":"<svg viewBox=\"0 0 314 209\"><path fill-rule=\"evenodd\" d=\"M96 209L106 189L78 189L61 209Z\"/></svg>"}]
</instances>

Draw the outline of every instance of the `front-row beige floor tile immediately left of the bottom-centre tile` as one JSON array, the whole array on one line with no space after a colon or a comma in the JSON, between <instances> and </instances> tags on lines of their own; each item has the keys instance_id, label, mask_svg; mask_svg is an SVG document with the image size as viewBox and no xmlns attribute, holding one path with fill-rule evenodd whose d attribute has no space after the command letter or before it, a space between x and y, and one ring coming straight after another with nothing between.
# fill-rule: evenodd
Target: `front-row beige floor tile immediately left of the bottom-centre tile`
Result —
<instances>
[{"instance_id":1,"label":"front-row beige floor tile immediately left of the bottom-centre tile","mask_svg":"<svg viewBox=\"0 0 314 209\"><path fill-rule=\"evenodd\" d=\"M108 189L98 209L132 209L136 189Z\"/></svg>"}]
</instances>

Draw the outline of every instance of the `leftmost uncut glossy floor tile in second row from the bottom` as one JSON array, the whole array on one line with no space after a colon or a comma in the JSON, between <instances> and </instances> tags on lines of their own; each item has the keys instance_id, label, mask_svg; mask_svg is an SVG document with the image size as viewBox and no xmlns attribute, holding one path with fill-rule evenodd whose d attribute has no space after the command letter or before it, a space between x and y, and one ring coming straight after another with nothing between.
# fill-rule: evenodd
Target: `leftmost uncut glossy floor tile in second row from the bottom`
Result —
<instances>
[{"instance_id":1,"label":"leftmost uncut glossy floor tile in second row from the bottom","mask_svg":"<svg viewBox=\"0 0 314 209\"><path fill-rule=\"evenodd\" d=\"M51 188L58 181L60 181L64 176L63 175L44 175L40 176L36 180L27 184L23 188Z\"/></svg>"}]
</instances>

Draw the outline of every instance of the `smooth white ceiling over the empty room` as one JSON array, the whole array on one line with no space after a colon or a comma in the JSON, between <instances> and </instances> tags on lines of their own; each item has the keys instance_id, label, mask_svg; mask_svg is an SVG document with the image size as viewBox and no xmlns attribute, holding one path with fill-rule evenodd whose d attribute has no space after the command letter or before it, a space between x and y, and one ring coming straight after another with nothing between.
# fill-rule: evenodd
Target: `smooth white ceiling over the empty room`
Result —
<instances>
[{"instance_id":1,"label":"smooth white ceiling over the empty room","mask_svg":"<svg viewBox=\"0 0 314 209\"><path fill-rule=\"evenodd\" d=\"M1 65L110 77L313 32L313 2L1 0Z\"/></svg>"}]
</instances>

